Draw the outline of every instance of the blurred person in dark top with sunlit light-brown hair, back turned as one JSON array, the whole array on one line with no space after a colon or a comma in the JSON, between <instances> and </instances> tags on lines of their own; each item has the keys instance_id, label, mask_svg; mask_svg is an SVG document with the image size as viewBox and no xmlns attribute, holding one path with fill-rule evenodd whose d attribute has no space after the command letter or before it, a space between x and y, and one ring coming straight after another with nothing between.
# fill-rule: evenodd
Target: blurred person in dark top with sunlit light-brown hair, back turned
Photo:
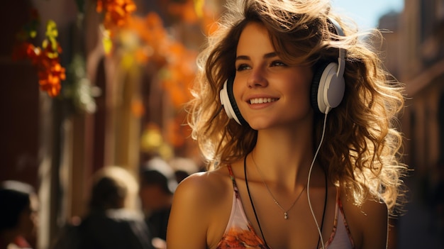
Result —
<instances>
[{"instance_id":1,"label":"blurred person in dark top with sunlit light-brown hair, back turned","mask_svg":"<svg viewBox=\"0 0 444 249\"><path fill-rule=\"evenodd\" d=\"M96 172L87 216L62 233L55 248L154 248L143 214L134 208L137 192L137 181L123 167Z\"/></svg>"}]
</instances>

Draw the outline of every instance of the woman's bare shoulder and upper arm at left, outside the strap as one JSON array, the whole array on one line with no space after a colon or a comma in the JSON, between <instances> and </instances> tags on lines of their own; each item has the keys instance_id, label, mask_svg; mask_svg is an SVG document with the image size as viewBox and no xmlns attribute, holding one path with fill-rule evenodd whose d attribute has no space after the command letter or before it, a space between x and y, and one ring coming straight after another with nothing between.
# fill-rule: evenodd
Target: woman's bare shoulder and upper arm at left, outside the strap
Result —
<instances>
[{"instance_id":1,"label":"woman's bare shoulder and upper arm at left, outside the strap","mask_svg":"<svg viewBox=\"0 0 444 249\"><path fill-rule=\"evenodd\" d=\"M228 204L228 181L223 170L216 170L195 173L180 182L168 221L168 248L208 248L216 240L209 233Z\"/></svg>"}]
</instances>

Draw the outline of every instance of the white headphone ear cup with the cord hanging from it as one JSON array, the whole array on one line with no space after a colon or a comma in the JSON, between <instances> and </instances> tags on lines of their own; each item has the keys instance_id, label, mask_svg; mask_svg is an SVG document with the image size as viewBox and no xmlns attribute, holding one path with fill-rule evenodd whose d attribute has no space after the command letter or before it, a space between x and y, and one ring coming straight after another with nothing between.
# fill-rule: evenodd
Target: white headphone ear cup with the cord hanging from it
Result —
<instances>
[{"instance_id":1,"label":"white headphone ear cup with the cord hanging from it","mask_svg":"<svg viewBox=\"0 0 444 249\"><path fill-rule=\"evenodd\" d=\"M311 106L315 111L326 114L328 108L340 104L345 92L343 75L338 77L338 63L323 63L317 67L311 83Z\"/></svg>"}]
</instances>

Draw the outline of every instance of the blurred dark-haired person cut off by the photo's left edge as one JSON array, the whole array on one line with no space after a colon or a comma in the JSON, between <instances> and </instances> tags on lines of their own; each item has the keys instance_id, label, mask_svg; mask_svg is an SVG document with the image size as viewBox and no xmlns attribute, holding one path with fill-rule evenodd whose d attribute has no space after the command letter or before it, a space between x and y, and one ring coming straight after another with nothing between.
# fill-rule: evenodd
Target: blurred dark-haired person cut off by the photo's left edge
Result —
<instances>
[{"instance_id":1,"label":"blurred dark-haired person cut off by the photo's left edge","mask_svg":"<svg viewBox=\"0 0 444 249\"><path fill-rule=\"evenodd\" d=\"M30 184L5 181L0 186L0 249L30 248L37 228L38 197Z\"/></svg>"}]
</instances>

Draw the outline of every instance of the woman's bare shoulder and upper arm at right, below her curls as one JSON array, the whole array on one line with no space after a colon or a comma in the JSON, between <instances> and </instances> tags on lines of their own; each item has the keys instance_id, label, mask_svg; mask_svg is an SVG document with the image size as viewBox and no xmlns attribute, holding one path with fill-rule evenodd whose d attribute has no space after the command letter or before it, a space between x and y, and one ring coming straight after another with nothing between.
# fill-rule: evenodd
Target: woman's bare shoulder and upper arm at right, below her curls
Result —
<instances>
[{"instance_id":1,"label":"woman's bare shoulder and upper arm at right, below her curls","mask_svg":"<svg viewBox=\"0 0 444 249\"><path fill-rule=\"evenodd\" d=\"M387 205L377 198L364 201L361 206L341 192L345 219L350 228L355 248L386 248L388 233Z\"/></svg>"}]
</instances>

